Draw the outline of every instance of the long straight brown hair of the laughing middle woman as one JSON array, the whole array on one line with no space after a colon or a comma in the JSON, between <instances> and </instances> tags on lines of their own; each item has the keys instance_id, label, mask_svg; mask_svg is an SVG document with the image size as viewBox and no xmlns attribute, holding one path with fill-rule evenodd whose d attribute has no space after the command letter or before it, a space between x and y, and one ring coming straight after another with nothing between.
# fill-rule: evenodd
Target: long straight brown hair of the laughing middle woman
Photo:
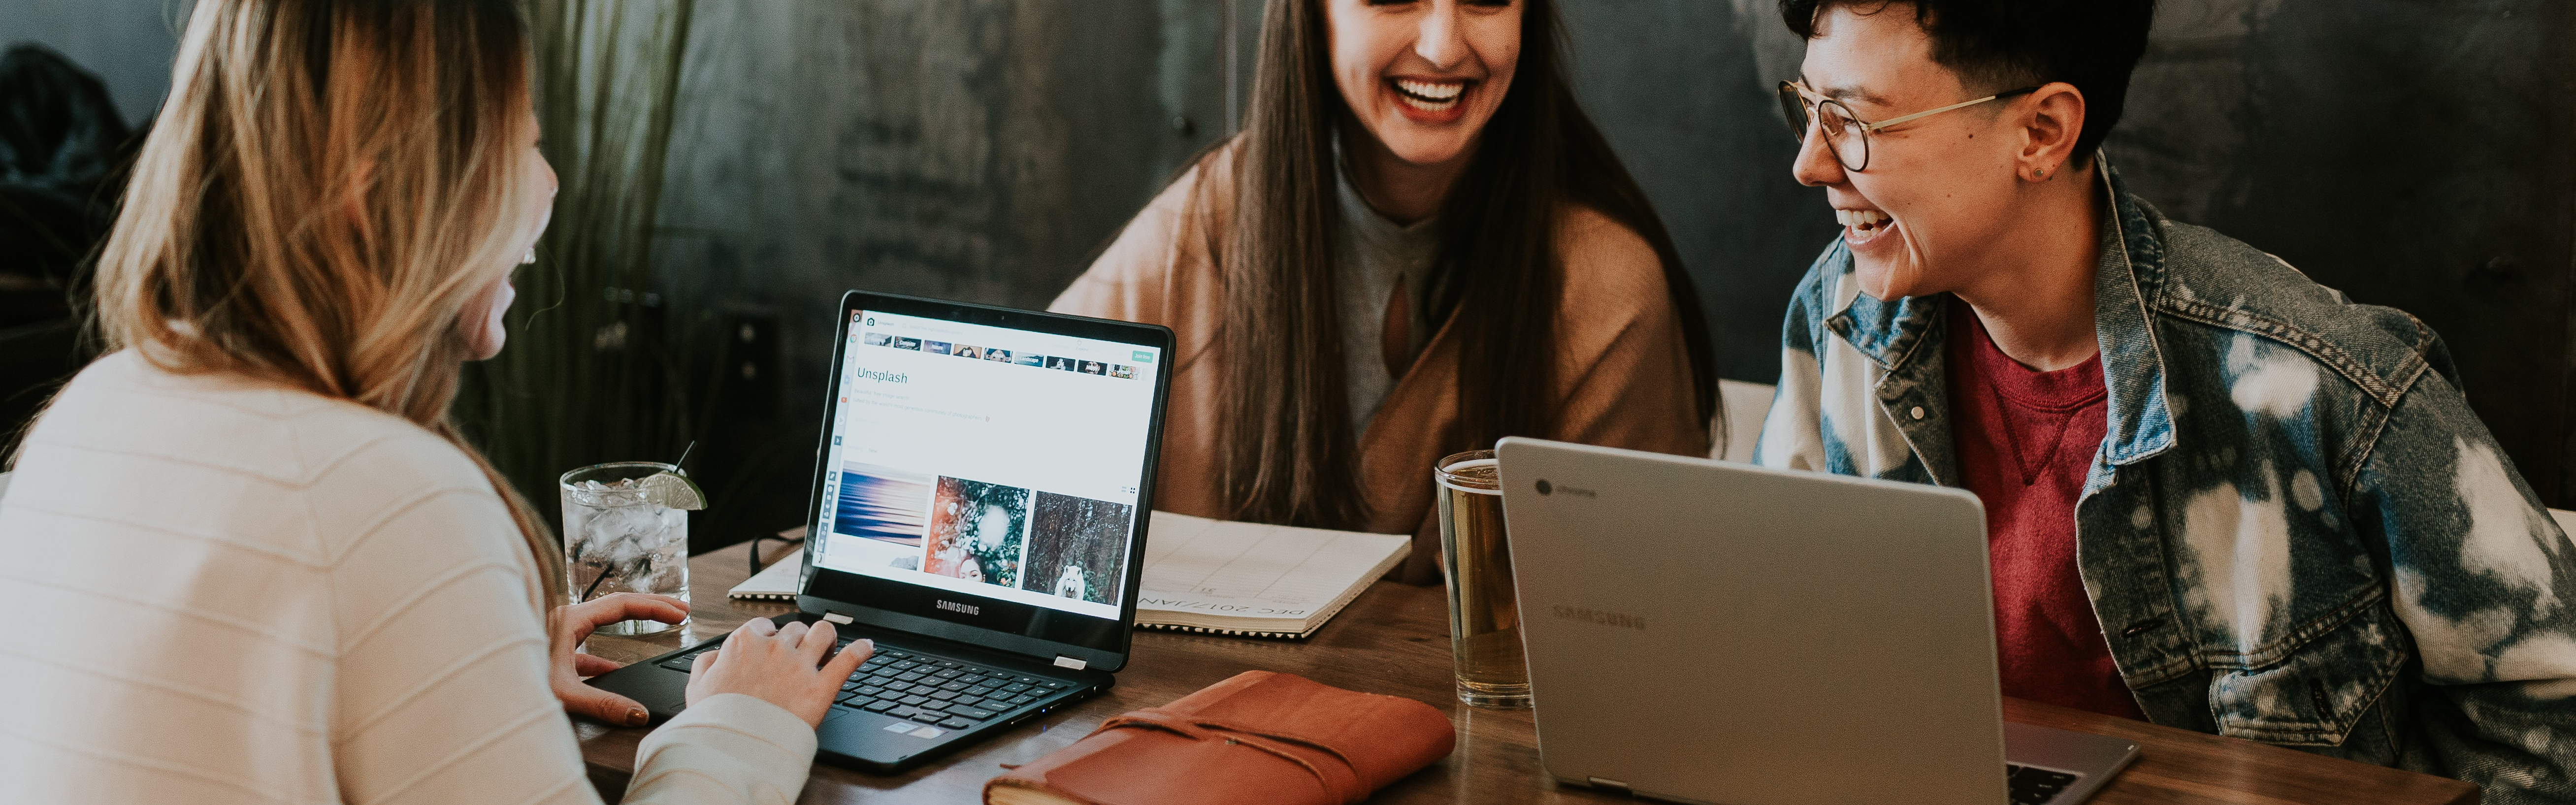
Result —
<instances>
[{"instance_id":1,"label":"long straight brown hair of the laughing middle woman","mask_svg":"<svg viewBox=\"0 0 2576 805\"><path fill-rule=\"evenodd\" d=\"M1417 321L1453 327L1461 347L1458 432L1443 440L1476 450L1556 424L1556 311L1564 283L1582 280L1556 255L1556 224L1577 206L1628 226L1664 262L1698 417L1708 422L1716 363L1700 293L1654 203L1574 103L1556 5L1522 3L1512 87L1440 208L1440 252L1430 293L1417 301ZM1329 41L1324 0L1270 0L1262 13L1244 134L1231 152L1234 242L1218 252L1221 484L1239 520L1358 527L1368 509L1342 375L1350 345L1337 324L1334 242L1345 234L1332 139L1360 123L1332 80Z\"/></svg>"}]
</instances>

